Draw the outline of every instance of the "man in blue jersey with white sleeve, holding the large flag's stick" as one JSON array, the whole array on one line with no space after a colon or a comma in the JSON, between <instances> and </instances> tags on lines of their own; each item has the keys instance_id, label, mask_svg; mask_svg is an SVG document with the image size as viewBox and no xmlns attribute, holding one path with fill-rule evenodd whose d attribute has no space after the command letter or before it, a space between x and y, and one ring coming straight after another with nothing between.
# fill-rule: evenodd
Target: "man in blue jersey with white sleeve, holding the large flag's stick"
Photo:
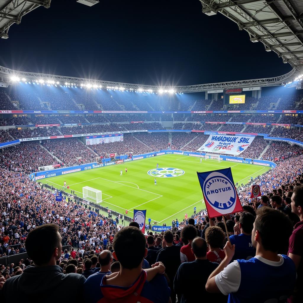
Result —
<instances>
[{"instance_id":1,"label":"man in blue jersey with white sleeve, holding the large flag's stick","mask_svg":"<svg viewBox=\"0 0 303 303\"><path fill-rule=\"evenodd\" d=\"M206 290L229 294L228 302L285 302L294 289L296 268L291 258L278 255L278 251L288 244L291 232L292 223L284 213L262 207L258 210L251 236L256 248L255 257L229 264L235 254L235 245L231 248L227 242L226 256L208 277Z\"/></svg>"}]
</instances>

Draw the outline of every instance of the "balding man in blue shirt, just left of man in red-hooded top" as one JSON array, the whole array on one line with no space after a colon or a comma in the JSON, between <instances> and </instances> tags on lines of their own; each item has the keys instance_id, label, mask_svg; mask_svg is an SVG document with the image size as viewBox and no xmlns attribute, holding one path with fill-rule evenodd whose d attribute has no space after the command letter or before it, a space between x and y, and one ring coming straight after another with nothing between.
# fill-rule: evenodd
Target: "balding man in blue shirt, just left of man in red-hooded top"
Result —
<instances>
[{"instance_id":1,"label":"balding man in blue shirt, just left of man in red-hooded top","mask_svg":"<svg viewBox=\"0 0 303 303\"><path fill-rule=\"evenodd\" d=\"M85 302L95 303L102 297L100 284L103 276L111 274L112 253L104 250L98 255L100 270L90 275L84 283Z\"/></svg>"}]
</instances>

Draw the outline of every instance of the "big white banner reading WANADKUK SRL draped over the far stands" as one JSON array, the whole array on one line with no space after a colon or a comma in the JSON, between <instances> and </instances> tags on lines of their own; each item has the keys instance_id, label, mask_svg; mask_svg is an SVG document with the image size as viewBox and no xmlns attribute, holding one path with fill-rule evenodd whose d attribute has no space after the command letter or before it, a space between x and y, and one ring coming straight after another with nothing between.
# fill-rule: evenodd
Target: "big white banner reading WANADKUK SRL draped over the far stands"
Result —
<instances>
[{"instance_id":1,"label":"big white banner reading WANADKUK SRL draped over the far stands","mask_svg":"<svg viewBox=\"0 0 303 303\"><path fill-rule=\"evenodd\" d=\"M236 156L245 151L254 139L255 136L210 135L198 151Z\"/></svg>"}]
</instances>

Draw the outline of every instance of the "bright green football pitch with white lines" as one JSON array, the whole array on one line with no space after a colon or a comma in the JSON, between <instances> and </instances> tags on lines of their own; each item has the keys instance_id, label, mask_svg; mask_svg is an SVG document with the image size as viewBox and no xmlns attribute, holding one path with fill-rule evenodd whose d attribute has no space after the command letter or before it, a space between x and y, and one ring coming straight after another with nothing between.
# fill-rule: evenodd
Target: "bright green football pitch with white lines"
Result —
<instances>
[{"instance_id":1,"label":"bright green football pitch with white lines","mask_svg":"<svg viewBox=\"0 0 303 303\"><path fill-rule=\"evenodd\" d=\"M155 185L155 176L148 175L148 171L155 169L157 163L159 168L178 168L183 170L184 174L180 171L171 171L178 176L158 176ZM126 167L127 174L125 174ZM130 217L133 215L133 209L146 209L146 216L150 217L152 222L170 225L173 219L183 220L185 213L192 215L195 206L197 211L205 208L196 172L227 167L231 167L234 181L239 184L245 184L251 177L261 175L270 169L265 166L228 161L219 163L216 160L203 159L200 163L198 157L161 155L39 181L59 189L66 181L70 190L75 190L80 197L84 186L102 190L102 206L107 206L121 214L125 214L125 210L128 210ZM120 176L121 169L122 176Z\"/></svg>"}]
</instances>

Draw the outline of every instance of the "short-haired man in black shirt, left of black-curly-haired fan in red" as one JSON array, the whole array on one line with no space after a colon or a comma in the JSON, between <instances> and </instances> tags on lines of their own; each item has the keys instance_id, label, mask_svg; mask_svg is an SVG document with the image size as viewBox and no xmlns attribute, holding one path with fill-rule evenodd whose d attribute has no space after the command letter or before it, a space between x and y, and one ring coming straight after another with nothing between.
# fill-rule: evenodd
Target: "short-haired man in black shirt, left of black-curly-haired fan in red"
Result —
<instances>
[{"instance_id":1,"label":"short-haired man in black shirt, left of black-curly-haired fan in red","mask_svg":"<svg viewBox=\"0 0 303 303\"><path fill-rule=\"evenodd\" d=\"M180 249L181 246L173 245L174 235L170 230L164 232L163 249L158 252L157 262L162 262L165 266L165 272L169 279L171 288L171 302L176 302L176 293L174 291L174 278L181 264Z\"/></svg>"}]
</instances>

